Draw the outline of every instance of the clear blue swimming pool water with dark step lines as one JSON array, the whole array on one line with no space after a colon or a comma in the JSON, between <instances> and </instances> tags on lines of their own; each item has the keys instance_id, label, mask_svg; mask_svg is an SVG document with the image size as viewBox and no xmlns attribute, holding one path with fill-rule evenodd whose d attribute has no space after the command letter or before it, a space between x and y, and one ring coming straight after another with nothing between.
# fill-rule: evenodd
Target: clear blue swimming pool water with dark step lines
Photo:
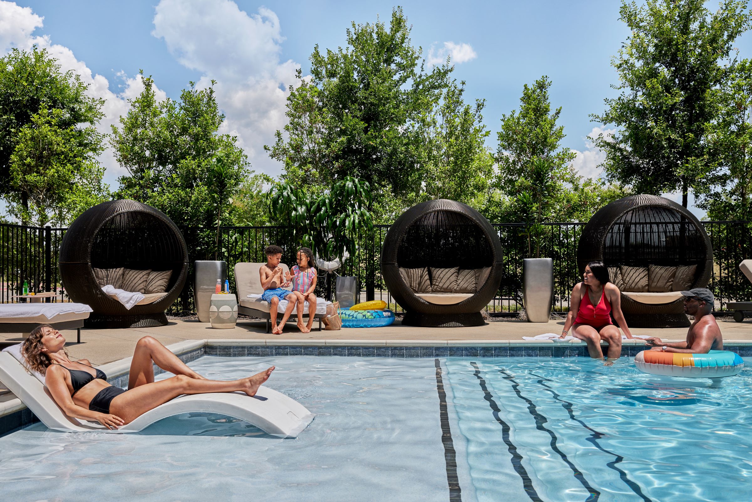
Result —
<instances>
[{"instance_id":1,"label":"clear blue swimming pool water with dark step lines","mask_svg":"<svg viewBox=\"0 0 752 502\"><path fill-rule=\"evenodd\" d=\"M750 360L747 358L747 362ZM0 438L3 500L746 500L750 370L711 384L631 358L214 357L317 416L278 439L220 415L140 434ZM160 375L157 378L165 378ZM183 436L165 435L166 431Z\"/></svg>"}]
</instances>

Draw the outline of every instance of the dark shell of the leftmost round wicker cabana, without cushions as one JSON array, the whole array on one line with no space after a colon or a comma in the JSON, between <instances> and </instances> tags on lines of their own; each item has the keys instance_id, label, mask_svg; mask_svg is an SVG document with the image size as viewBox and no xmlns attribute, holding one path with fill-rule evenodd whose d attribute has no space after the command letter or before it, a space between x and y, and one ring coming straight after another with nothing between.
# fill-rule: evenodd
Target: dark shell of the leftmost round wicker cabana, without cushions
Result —
<instances>
[{"instance_id":1,"label":"dark shell of the leftmost round wicker cabana, without cushions","mask_svg":"<svg viewBox=\"0 0 752 502\"><path fill-rule=\"evenodd\" d=\"M154 327L167 324L165 310L188 274L188 249L180 230L162 211L134 200L103 202L87 209L65 232L60 275L68 297L94 312L87 327ZM94 269L171 270L163 294L126 309L102 291ZM147 301L150 300L147 298Z\"/></svg>"}]
</instances>

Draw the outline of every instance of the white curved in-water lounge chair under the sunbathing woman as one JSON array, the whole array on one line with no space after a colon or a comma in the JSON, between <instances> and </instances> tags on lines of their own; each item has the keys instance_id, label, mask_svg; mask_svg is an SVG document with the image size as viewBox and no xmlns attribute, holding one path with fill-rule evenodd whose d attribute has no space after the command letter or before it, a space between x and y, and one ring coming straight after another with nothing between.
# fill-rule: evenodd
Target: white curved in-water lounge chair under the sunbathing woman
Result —
<instances>
[{"instance_id":1,"label":"white curved in-water lounge chair under the sunbathing woman","mask_svg":"<svg viewBox=\"0 0 752 502\"><path fill-rule=\"evenodd\" d=\"M262 386L256 396L240 392L214 392L176 397L144 413L129 424L109 431L99 422L69 417L57 406L44 386L44 376L26 370L20 345L0 352L0 382L26 404L39 420L57 431L138 432L162 418L191 412L210 412L247 421L267 434L296 437L314 415L296 400ZM31 373L30 373L31 372Z\"/></svg>"}]
</instances>

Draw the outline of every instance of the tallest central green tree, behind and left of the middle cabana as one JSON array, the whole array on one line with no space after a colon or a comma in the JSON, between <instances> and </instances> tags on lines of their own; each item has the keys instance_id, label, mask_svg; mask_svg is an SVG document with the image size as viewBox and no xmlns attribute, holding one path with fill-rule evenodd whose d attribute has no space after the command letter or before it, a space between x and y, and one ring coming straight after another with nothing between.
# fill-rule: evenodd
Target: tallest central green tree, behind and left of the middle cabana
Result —
<instances>
[{"instance_id":1,"label":"tallest central green tree, behind and left of the middle cabana","mask_svg":"<svg viewBox=\"0 0 752 502\"><path fill-rule=\"evenodd\" d=\"M314 48L311 80L299 72L299 85L290 87L287 139L277 131L265 147L284 163L287 180L323 187L353 176L371 185L375 206L420 190L420 137L411 124L438 102L452 68L427 71L410 31L396 8L388 28L353 23L344 49Z\"/></svg>"}]
</instances>

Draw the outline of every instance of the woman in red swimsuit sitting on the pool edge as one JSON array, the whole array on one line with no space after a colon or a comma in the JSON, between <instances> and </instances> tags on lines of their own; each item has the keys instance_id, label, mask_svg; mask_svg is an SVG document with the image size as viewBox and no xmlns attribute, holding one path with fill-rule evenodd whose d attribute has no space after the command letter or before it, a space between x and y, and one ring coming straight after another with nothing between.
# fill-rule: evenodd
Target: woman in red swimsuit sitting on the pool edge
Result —
<instances>
[{"instance_id":1,"label":"woman in red swimsuit sitting on the pool edge","mask_svg":"<svg viewBox=\"0 0 752 502\"><path fill-rule=\"evenodd\" d=\"M594 359L603 359L603 340L608 343L608 361L613 364L621 354L621 333L611 322L611 312L614 312L614 319L626 337L631 339L632 333L621 313L621 291L611 282L605 265L591 261L585 267L582 282L572 290L569 315L559 338L566 337L571 331L572 336L587 342L587 351Z\"/></svg>"}]
</instances>

